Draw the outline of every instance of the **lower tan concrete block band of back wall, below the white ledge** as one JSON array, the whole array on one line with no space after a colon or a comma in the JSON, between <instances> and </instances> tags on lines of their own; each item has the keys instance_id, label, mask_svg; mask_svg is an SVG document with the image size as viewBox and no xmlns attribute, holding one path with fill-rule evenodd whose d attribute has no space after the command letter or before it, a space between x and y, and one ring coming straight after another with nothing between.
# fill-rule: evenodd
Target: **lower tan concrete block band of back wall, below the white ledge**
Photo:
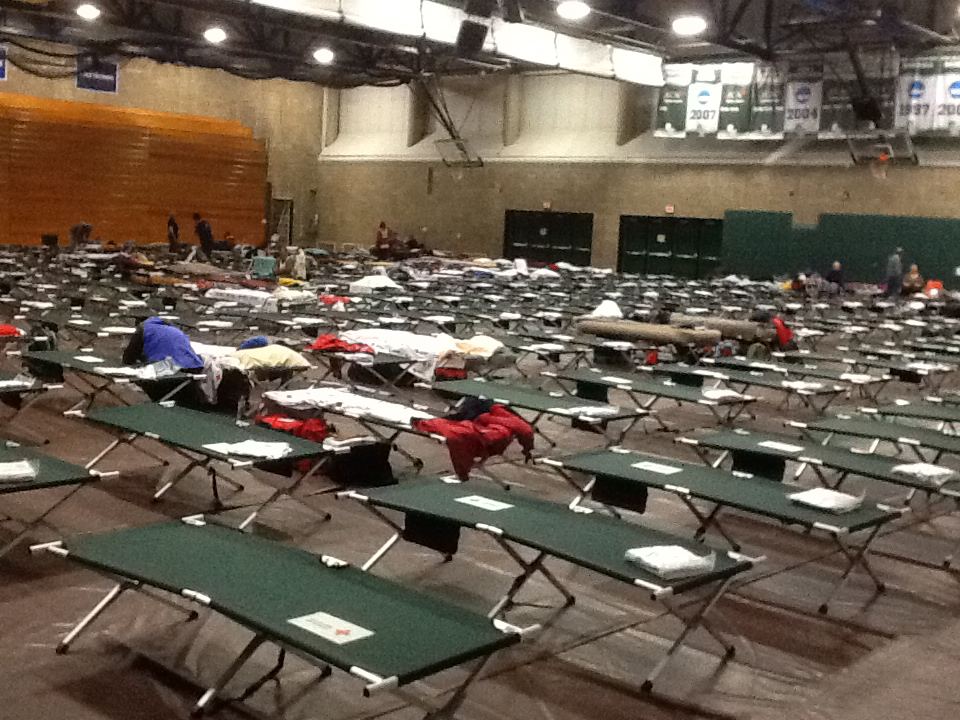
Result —
<instances>
[{"instance_id":1,"label":"lower tan concrete block band of back wall, below the white ledge","mask_svg":"<svg viewBox=\"0 0 960 720\"><path fill-rule=\"evenodd\" d=\"M621 215L722 218L727 210L957 217L960 169L893 168L886 180L856 167L488 162L475 170L398 161L323 161L320 238L372 244L377 223L429 245L499 256L509 209L594 214L593 264L615 267ZM424 233L422 228L426 227ZM757 252L776 254L775 239ZM849 238L856 243L857 238Z\"/></svg>"}]
</instances>

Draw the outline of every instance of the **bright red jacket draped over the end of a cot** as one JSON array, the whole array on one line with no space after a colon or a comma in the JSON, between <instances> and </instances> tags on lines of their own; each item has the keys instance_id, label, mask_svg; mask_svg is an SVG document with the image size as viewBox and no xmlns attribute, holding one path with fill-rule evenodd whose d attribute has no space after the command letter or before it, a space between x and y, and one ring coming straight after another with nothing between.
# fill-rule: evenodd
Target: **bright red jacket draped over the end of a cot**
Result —
<instances>
[{"instance_id":1,"label":"bright red jacket draped over the end of a cot","mask_svg":"<svg viewBox=\"0 0 960 720\"><path fill-rule=\"evenodd\" d=\"M447 452L453 471L463 481L477 462L493 455L502 455L514 438L529 456L533 449L533 428L523 418L514 415L503 405L494 405L490 412L474 420L446 420L432 418L418 420L414 430L442 435L447 441Z\"/></svg>"}]
</instances>

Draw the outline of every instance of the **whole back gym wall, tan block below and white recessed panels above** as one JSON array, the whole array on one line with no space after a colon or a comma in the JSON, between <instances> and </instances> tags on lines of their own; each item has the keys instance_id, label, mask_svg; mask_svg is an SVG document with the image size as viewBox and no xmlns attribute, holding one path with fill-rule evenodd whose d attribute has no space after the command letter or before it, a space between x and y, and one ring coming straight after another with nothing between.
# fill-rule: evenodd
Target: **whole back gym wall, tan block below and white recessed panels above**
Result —
<instances>
[{"instance_id":1,"label":"whole back gym wall, tan block below and white recessed panels above","mask_svg":"<svg viewBox=\"0 0 960 720\"><path fill-rule=\"evenodd\" d=\"M592 262L615 267L620 216L661 215L667 205L690 217L784 212L808 225L830 213L957 216L960 145L921 150L920 167L892 168L886 180L852 167L837 144L766 164L777 145L653 138L652 89L532 74L448 83L451 114L486 163L454 170L437 162L435 123L411 134L418 111L409 89L336 94L339 134L320 156L318 180L326 241L370 244L386 220L436 247L497 256L504 212L549 203L593 213ZM782 271L777 238L756 239L741 257Z\"/></svg>"}]
</instances>

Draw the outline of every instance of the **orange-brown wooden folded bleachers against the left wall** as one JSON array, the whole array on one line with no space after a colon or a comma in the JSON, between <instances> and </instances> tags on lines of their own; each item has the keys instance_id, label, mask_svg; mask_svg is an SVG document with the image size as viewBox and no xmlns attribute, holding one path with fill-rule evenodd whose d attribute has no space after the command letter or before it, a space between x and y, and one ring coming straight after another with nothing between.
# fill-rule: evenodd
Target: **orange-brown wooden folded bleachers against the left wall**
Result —
<instances>
[{"instance_id":1,"label":"orange-brown wooden folded bleachers against the left wall","mask_svg":"<svg viewBox=\"0 0 960 720\"><path fill-rule=\"evenodd\" d=\"M173 211L183 239L202 213L217 237L263 239L266 154L234 122L0 94L0 241L94 237L162 242Z\"/></svg>"}]
</instances>

